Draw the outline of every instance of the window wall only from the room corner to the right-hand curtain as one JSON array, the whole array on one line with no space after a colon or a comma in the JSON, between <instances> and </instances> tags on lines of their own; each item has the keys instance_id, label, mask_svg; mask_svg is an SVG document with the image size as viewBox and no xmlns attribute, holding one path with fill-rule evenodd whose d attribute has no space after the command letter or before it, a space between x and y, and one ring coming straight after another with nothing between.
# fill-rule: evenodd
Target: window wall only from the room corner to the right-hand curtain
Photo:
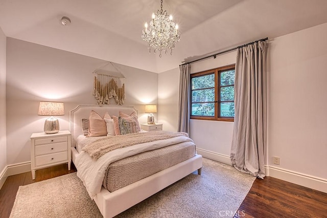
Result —
<instances>
[{"instance_id":1,"label":"window wall only from the room corner to the right-hand curtain","mask_svg":"<svg viewBox=\"0 0 327 218\"><path fill-rule=\"evenodd\" d=\"M236 52L193 63L191 73L197 73L235 63ZM158 77L158 122L164 130L178 128L179 68L162 72ZM197 145L198 153L224 163L230 163L230 143L233 122L191 120L190 137ZM205 152L205 154L204 154Z\"/></svg>"}]
</instances>

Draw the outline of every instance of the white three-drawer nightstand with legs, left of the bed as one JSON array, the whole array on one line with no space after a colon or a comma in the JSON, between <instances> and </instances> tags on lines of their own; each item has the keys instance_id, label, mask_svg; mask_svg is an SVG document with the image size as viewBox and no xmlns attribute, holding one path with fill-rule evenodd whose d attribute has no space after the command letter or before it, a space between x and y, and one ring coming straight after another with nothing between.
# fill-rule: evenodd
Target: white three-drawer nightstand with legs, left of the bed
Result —
<instances>
[{"instance_id":1,"label":"white three-drawer nightstand with legs, left of the bed","mask_svg":"<svg viewBox=\"0 0 327 218\"><path fill-rule=\"evenodd\" d=\"M71 132L68 130L55 134L32 134L31 171L33 180L37 169L68 163L68 170L71 170L71 137Z\"/></svg>"}]
</instances>

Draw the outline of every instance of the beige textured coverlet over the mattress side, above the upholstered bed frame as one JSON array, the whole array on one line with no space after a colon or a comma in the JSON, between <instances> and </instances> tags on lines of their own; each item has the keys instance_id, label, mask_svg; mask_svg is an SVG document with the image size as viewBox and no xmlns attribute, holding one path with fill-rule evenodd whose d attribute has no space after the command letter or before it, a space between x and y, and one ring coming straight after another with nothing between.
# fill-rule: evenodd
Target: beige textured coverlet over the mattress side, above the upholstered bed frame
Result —
<instances>
[{"instance_id":1,"label":"beige textured coverlet over the mattress side, above the upholstered bed frame","mask_svg":"<svg viewBox=\"0 0 327 218\"><path fill-rule=\"evenodd\" d=\"M181 142L113 162L105 172L103 187L113 192L194 157L196 147Z\"/></svg>"}]
</instances>

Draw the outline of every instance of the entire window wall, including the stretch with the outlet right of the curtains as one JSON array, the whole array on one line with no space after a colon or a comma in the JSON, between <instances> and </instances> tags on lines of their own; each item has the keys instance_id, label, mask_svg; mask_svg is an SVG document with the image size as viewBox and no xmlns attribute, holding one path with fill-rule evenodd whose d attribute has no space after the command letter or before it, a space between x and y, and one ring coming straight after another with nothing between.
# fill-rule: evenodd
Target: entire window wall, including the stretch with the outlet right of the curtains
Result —
<instances>
[{"instance_id":1,"label":"entire window wall, including the stretch with the outlet right of the curtains","mask_svg":"<svg viewBox=\"0 0 327 218\"><path fill-rule=\"evenodd\" d=\"M327 23L270 39L268 52L268 175L327 192ZM235 59L236 52L231 52L193 63L191 73ZM170 108L178 99L178 89L170 89L177 81L177 68L159 74L160 107ZM175 97L161 97L166 90ZM177 126L178 106L170 109L159 118ZM198 153L224 163L230 163L232 132L233 122L191 120ZM280 165L272 163L273 156L281 158Z\"/></svg>"}]
</instances>

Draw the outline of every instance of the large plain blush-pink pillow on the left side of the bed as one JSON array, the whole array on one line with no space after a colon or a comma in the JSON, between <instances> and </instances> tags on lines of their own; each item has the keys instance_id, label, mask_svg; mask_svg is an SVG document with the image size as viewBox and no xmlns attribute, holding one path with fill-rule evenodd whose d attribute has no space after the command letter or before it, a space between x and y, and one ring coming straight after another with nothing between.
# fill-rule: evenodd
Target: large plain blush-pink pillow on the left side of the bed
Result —
<instances>
[{"instance_id":1,"label":"large plain blush-pink pillow on the left side of the bed","mask_svg":"<svg viewBox=\"0 0 327 218\"><path fill-rule=\"evenodd\" d=\"M91 111L88 118L88 137L92 136L106 136L107 135L107 125L104 118L111 119L108 112L103 116L103 118L95 111Z\"/></svg>"}]
</instances>

